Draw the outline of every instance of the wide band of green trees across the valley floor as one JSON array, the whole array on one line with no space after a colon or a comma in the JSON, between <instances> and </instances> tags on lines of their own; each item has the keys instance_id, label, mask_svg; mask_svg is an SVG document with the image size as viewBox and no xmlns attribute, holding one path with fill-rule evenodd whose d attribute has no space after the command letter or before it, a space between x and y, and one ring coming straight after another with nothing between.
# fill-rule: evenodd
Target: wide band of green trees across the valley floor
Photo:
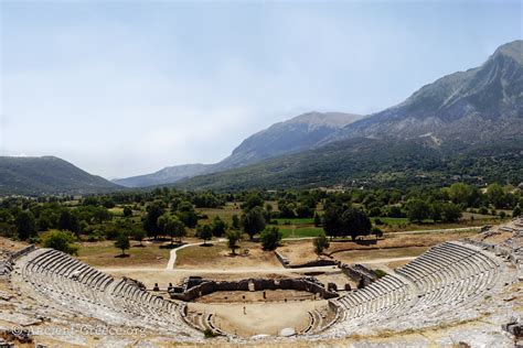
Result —
<instances>
[{"instance_id":1,"label":"wide band of green trees across the valley floor","mask_svg":"<svg viewBox=\"0 0 523 348\"><path fill-rule=\"evenodd\" d=\"M227 219L209 219L199 208L223 208L226 204L242 209ZM463 211L482 215L520 215L521 188L500 184L477 187L456 183L448 187L399 189L352 188L345 192L278 191L182 192L154 188L150 192L116 193L74 197L10 197L0 200L0 233L21 240L38 241L40 231L67 230L87 241L116 240L125 232L142 241L169 236L171 240L194 230L209 240L228 231L242 231L253 239L277 225L278 218L313 218L329 236L369 233L373 218L384 225L385 218L408 218L412 222L456 222ZM115 210L116 209L116 210ZM510 213L505 213L510 211ZM355 228L354 226L357 226ZM356 232L357 231L357 232ZM273 235L276 232L273 231ZM273 236L274 237L274 236Z\"/></svg>"}]
</instances>

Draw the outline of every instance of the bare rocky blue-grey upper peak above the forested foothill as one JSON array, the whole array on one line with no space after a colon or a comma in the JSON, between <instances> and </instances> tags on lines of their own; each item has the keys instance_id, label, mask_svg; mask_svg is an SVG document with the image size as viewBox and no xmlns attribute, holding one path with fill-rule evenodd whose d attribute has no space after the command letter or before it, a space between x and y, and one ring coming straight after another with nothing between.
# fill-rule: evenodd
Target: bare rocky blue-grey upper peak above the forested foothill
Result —
<instances>
[{"instance_id":1,"label":"bare rocky blue-grey upper peak above the forested foothill","mask_svg":"<svg viewBox=\"0 0 523 348\"><path fill-rule=\"evenodd\" d=\"M445 76L404 102L345 127L348 138L434 137L482 142L523 132L523 41L500 46L480 67Z\"/></svg>"}]
</instances>

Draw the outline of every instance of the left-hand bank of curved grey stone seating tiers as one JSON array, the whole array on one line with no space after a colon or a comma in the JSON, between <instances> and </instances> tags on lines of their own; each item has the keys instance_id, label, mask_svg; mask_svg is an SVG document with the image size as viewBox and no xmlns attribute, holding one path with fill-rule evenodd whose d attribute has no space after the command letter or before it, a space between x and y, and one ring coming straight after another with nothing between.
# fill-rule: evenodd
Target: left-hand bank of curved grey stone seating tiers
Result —
<instances>
[{"instance_id":1,"label":"left-hand bank of curved grey stone seating tiers","mask_svg":"<svg viewBox=\"0 0 523 348\"><path fill-rule=\"evenodd\" d=\"M199 336L184 323L177 303L100 272L63 252L39 249L22 258L20 274L42 295L108 323L163 328Z\"/></svg>"}]
</instances>

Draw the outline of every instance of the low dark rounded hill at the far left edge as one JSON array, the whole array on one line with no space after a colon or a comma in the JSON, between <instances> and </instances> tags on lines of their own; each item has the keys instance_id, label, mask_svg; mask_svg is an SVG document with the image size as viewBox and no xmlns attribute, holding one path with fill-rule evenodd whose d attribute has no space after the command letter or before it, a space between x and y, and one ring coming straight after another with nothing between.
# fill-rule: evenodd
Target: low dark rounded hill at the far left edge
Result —
<instances>
[{"instance_id":1,"label":"low dark rounded hill at the far left edge","mask_svg":"<svg viewBox=\"0 0 523 348\"><path fill-rule=\"evenodd\" d=\"M0 195L73 195L121 189L54 156L0 156Z\"/></svg>"}]
</instances>

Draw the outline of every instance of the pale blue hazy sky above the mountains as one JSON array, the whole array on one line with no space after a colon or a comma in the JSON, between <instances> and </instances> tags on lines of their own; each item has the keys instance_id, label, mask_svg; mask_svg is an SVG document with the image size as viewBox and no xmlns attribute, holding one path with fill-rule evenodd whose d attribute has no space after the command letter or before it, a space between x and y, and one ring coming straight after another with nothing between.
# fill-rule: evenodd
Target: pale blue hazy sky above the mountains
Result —
<instances>
[{"instance_id":1,"label":"pale blue hazy sky above the mountains","mask_svg":"<svg viewBox=\"0 0 523 348\"><path fill-rule=\"evenodd\" d=\"M0 154L105 177L212 163L301 112L371 113L522 37L522 2L0 0Z\"/></svg>"}]
</instances>

